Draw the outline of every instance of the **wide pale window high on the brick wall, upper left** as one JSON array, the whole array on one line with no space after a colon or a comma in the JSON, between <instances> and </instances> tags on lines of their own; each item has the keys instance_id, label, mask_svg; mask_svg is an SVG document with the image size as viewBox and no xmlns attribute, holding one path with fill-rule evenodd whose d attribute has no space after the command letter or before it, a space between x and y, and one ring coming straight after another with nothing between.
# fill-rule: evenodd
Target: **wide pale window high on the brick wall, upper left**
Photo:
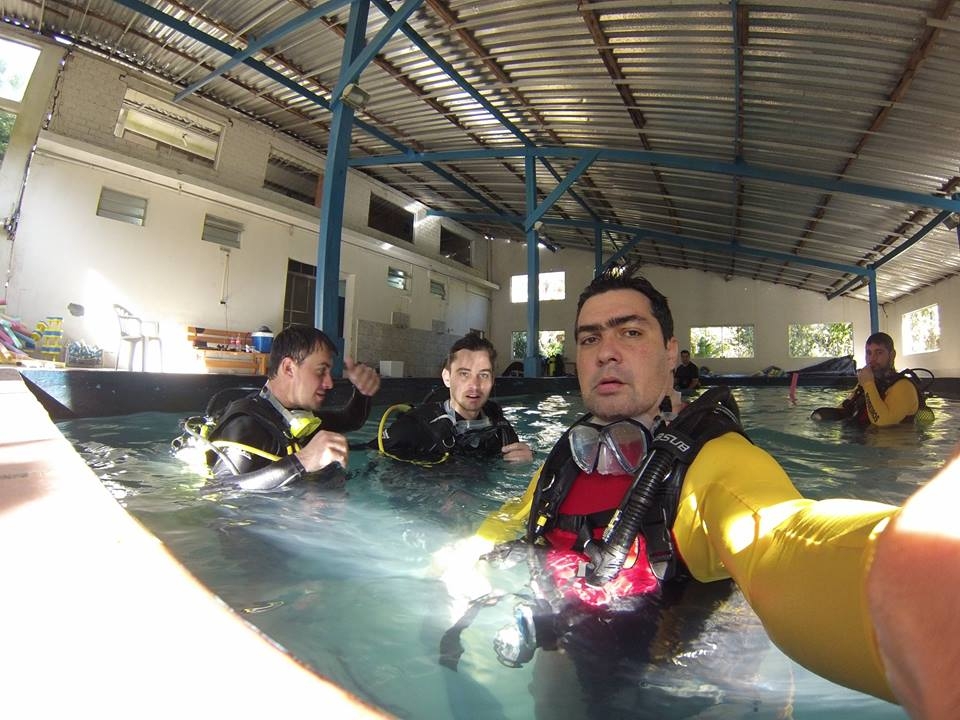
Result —
<instances>
[{"instance_id":1,"label":"wide pale window high on the brick wall, upper left","mask_svg":"<svg viewBox=\"0 0 960 720\"><path fill-rule=\"evenodd\" d=\"M179 105L127 89L114 135L213 167L223 127Z\"/></svg>"}]
</instances>

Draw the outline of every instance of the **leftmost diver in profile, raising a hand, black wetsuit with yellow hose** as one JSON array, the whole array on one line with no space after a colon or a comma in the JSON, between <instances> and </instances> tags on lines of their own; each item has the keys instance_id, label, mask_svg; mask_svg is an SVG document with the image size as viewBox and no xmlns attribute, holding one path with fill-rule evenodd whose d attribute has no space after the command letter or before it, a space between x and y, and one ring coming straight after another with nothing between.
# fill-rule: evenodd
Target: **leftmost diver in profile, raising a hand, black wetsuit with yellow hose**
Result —
<instances>
[{"instance_id":1,"label":"leftmost diver in profile, raising a hand, black wetsuit with yellow hose","mask_svg":"<svg viewBox=\"0 0 960 720\"><path fill-rule=\"evenodd\" d=\"M323 410L333 388L337 350L320 330L291 325L273 340L267 382L259 392L227 405L207 434L207 462L219 481L270 490L333 464L347 466L347 439L362 427L380 376L345 361L353 394L341 408Z\"/></svg>"}]
</instances>

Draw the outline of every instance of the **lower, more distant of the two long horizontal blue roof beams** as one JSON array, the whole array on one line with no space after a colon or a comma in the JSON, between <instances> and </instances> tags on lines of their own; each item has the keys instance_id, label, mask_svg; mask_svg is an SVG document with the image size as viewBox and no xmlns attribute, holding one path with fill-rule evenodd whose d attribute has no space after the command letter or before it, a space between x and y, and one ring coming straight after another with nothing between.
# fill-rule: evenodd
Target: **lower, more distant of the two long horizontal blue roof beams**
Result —
<instances>
[{"instance_id":1,"label":"lower, more distant of the two long horizontal blue roof beams","mask_svg":"<svg viewBox=\"0 0 960 720\"><path fill-rule=\"evenodd\" d=\"M509 223L514 225L522 225L524 222L524 218L519 215L484 215L474 213L446 212L443 210L431 210L427 214L436 215L439 217L448 217L452 220L459 220L461 222L502 222L504 224ZM627 243L627 245L618 251L617 257L622 256L627 250L634 247L637 243L638 237L650 237L661 241L666 245L673 245L676 247L696 248L698 250L706 250L708 252L715 252L723 255L736 254L747 255L750 257L769 258L772 260L781 260L784 262L794 263L795 265L809 265L810 267L834 270L837 272L849 273L857 276L869 275L875 272L873 268L865 268L859 265L845 265L843 263L835 263L828 260L817 260L816 258L802 257L799 255L792 255L790 253L776 252L774 250L752 248L743 244L733 246L729 243L718 242L716 240L706 240L704 238L688 237L686 235L675 235L673 233L663 232L660 230L646 230L644 228L629 227L627 225L618 225L616 223L598 224L590 220L560 220L549 218L543 222L545 225L561 225L565 227L584 228L588 230L601 227L607 232L618 232L624 235L634 236L633 240L631 240L629 243Z\"/></svg>"}]
</instances>

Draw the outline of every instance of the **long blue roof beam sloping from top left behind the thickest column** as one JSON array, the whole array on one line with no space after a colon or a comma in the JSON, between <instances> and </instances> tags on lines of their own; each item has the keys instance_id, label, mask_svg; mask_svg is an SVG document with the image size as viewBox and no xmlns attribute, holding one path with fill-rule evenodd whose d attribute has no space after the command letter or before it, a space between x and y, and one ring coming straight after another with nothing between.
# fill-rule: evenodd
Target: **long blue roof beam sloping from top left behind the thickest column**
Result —
<instances>
[{"instance_id":1,"label":"long blue roof beam sloping from top left behind the thickest column","mask_svg":"<svg viewBox=\"0 0 960 720\"><path fill-rule=\"evenodd\" d=\"M203 32L199 28L195 28L183 20L167 15L166 13L161 12L157 8L147 5L144 2L141 2L141 0L113 0L113 1L115 3L123 5L126 8L129 8L130 10L134 10L136 12L142 13L143 15L149 17L151 20L156 20L157 22L161 22L167 25L168 27L171 27L174 30L183 33L187 37L190 37L194 40L202 42L203 44L213 48L214 50L218 50L219 52L222 52L224 55L233 56L234 54L239 53L239 51L232 45L228 45L222 40L219 40L218 38L215 38L212 35L208 35L207 33ZM254 70L256 70L257 72L261 73L265 77L268 77L269 79L273 80L274 82L279 83L280 85L283 85L288 90L292 90L293 92L300 95L302 98L306 100L310 100L313 103L316 103L323 109L325 110L331 109L330 103L327 102L322 96L317 95L312 90L309 90L303 87L299 83L277 72L276 70L271 68L269 65L266 65L265 63L262 63L259 60L254 60L253 58L247 58L243 61L243 63L244 65L247 65L253 68ZM358 120L354 118L353 125L354 127L357 127L360 130L363 130L368 135L375 137L376 139L389 145L390 147L394 148L395 150L401 153L413 152L412 148L407 147L399 140L395 140L394 138L390 137L379 128L376 128L373 125L370 125L369 123L364 122L363 120ZM425 167L429 168L430 170L435 172L437 175L442 177L444 180L446 180L447 182L450 182L451 184L455 185L459 189L463 190L465 193L467 193L472 198L477 200L477 202L485 205L486 207L489 207L494 212L501 212L500 208L498 208L489 199L487 199L482 194L474 190L472 187L464 183L462 180L455 177L454 175L444 170L443 168L439 167L435 163L429 162L429 161L420 161L420 162L415 161L415 162L416 164L422 164Z\"/></svg>"}]
</instances>

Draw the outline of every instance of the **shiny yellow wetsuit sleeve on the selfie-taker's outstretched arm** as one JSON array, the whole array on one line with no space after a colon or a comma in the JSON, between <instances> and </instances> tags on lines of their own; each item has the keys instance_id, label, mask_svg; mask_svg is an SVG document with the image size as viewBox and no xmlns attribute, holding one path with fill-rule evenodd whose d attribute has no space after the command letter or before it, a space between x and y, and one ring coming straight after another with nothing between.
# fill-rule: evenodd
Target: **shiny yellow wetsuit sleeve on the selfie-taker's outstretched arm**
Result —
<instances>
[{"instance_id":1,"label":"shiny yellow wetsuit sleeve on the selfie-taker's outstretched arm","mask_svg":"<svg viewBox=\"0 0 960 720\"><path fill-rule=\"evenodd\" d=\"M732 577L784 653L829 680L894 701L866 597L876 537L897 508L801 497L742 436L707 443L674 524L698 580Z\"/></svg>"}]
</instances>

